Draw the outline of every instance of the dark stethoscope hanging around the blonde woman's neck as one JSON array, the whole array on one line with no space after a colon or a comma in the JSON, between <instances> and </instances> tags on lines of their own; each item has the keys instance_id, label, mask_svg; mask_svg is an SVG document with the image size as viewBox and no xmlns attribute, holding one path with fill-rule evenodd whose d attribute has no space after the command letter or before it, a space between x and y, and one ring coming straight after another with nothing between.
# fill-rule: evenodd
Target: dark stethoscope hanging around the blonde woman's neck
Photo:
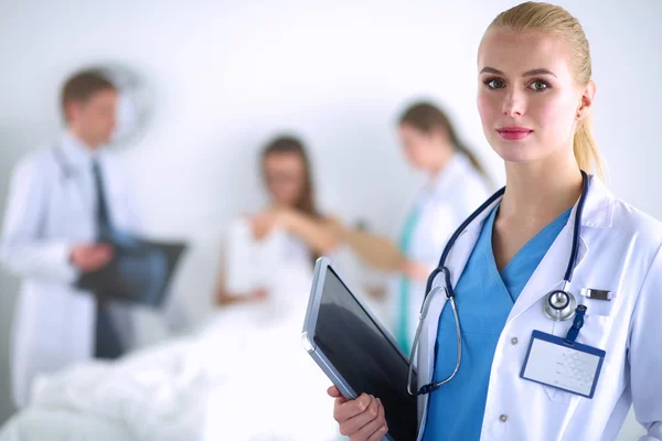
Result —
<instances>
[{"instance_id":1,"label":"dark stethoscope hanging around the blonde woman's neck","mask_svg":"<svg viewBox=\"0 0 662 441\"><path fill-rule=\"evenodd\" d=\"M573 319L575 316L575 310L577 308L577 300L575 299L575 295L573 295L573 293L568 291L568 286L570 284L570 281L573 280L573 273L575 271L575 266L577 263L577 255L579 252L579 229L580 229L580 224L581 224L581 213L584 212L584 204L586 203L586 196L588 195L589 179L588 179L588 174L586 174L586 172L583 170L581 170L581 179L583 179L583 189L581 189L581 196L579 197L579 203L577 204L577 211L575 212L575 225L574 225L574 230L573 230L573 247L570 250L570 258L568 259L568 266L567 266L567 269L565 272L565 277L563 278L563 284L562 284L560 289L548 292L547 295L545 295L545 299L543 300L543 313L547 318L549 318L556 322L562 322L562 321ZM445 379L442 379L440 381L429 383L429 384L423 386L418 391L412 390L412 376L414 373L414 363L410 362L409 369L407 373L407 392L413 397L416 397L419 395L425 395L425 394L430 394L431 391L437 390L439 387L441 387L446 383L450 381L456 376L456 374L458 373L458 370L460 368L460 363L462 361L462 336L461 336L461 331L460 331L460 321L458 319L458 308L457 308L456 301L455 301L455 291L452 289L452 283L450 282L450 270L446 267L446 259L448 257L448 254L450 252L450 249L452 248L456 240L458 239L458 237L460 237L460 235L465 232L465 228L467 228L467 226L469 226L469 224L471 224L481 213L483 213L485 209L488 209L488 207L490 207L496 200L499 200L501 196L503 196L504 192L505 192L505 187L503 187L503 189L499 190L496 193L494 193L488 201L485 201L480 207L478 207L478 209L476 212L473 212L471 214L471 216L469 216L462 223L462 225L460 225L460 227L452 234L452 236L450 236L450 239L448 240L448 243L446 244L446 247L444 248L441 258L439 259L439 265L433 271L433 273L428 277L427 286L426 286L426 290L425 290L426 293L425 293L425 298L423 301L423 308L420 310L420 316L418 319L418 326L416 329L416 334L414 336L414 345L412 347L410 361L414 359L414 357L416 356L416 353L418 351L418 338L420 336L420 330L423 327L423 322L425 321L425 318L427 316L428 308L430 305L430 300L433 299L434 294L439 289L444 289L446 291L446 298L448 299L447 303L450 303L450 308L452 310L452 315L455 319L456 336L457 336L457 343L458 343L457 344L457 346L458 346L457 362L456 362L455 369L448 377L446 377ZM433 289L431 288L433 282L439 273L444 273L445 283L442 287L438 286L438 287L435 287L435 289ZM444 308L446 308L446 304L444 304ZM444 313L444 309L441 310L440 314L441 313Z\"/></svg>"}]
</instances>

